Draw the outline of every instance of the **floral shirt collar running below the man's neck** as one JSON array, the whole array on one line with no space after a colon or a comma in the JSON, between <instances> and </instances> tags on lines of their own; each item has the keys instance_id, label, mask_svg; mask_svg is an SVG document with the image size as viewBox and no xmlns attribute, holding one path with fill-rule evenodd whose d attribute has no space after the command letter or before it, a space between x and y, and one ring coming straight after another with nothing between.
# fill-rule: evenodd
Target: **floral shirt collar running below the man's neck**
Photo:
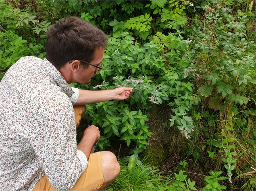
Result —
<instances>
[{"instance_id":1,"label":"floral shirt collar running below the man's neck","mask_svg":"<svg viewBox=\"0 0 256 191\"><path fill-rule=\"evenodd\" d=\"M65 93L69 98L75 93L58 69L50 63L47 59L44 59L42 62L42 70L46 75L52 80L53 83L58 85L61 88L61 91Z\"/></svg>"}]
</instances>

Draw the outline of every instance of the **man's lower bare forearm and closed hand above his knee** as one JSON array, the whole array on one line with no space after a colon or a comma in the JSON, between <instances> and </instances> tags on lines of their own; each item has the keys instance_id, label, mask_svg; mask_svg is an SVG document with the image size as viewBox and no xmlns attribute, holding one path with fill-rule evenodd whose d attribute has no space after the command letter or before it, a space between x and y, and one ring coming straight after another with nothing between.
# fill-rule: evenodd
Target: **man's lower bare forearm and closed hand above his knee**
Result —
<instances>
[{"instance_id":1,"label":"man's lower bare forearm and closed hand above his knee","mask_svg":"<svg viewBox=\"0 0 256 191\"><path fill-rule=\"evenodd\" d=\"M92 147L99 139L100 139L99 128L94 125L89 126L83 132L83 138L77 145L77 149L81 150L85 154L87 160L91 153Z\"/></svg>"}]
</instances>

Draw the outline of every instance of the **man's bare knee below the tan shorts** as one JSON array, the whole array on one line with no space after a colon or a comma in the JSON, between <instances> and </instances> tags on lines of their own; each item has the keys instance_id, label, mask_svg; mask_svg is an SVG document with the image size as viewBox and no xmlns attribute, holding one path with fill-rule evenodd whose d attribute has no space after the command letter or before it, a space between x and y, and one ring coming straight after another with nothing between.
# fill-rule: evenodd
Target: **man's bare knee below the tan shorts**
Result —
<instances>
[{"instance_id":1,"label":"man's bare knee below the tan shorts","mask_svg":"<svg viewBox=\"0 0 256 191\"><path fill-rule=\"evenodd\" d=\"M101 152L102 170L105 181L113 181L120 172L120 166L117 162L117 157L109 151Z\"/></svg>"}]
</instances>

